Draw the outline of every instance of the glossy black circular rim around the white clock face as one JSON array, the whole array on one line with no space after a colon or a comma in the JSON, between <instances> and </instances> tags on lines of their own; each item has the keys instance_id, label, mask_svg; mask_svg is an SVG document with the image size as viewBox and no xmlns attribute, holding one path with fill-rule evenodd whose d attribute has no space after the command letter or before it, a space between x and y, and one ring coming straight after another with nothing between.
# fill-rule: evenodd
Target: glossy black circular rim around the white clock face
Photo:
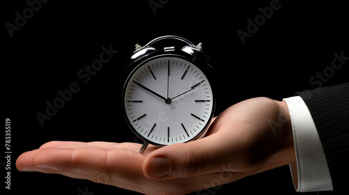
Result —
<instances>
[{"instance_id":1,"label":"glossy black circular rim around the white clock face","mask_svg":"<svg viewBox=\"0 0 349 195\"><path fill-rule=\"evenodd\" d=\"M171 143L171 144L159 144L159 143L155 143L154 141L151 141L145 137L143 137L140 133L137 132L137 130L135 130L135 128L133 127L133 125L131 124L131 121L128 120L128 117L127 117L127 113L126 113L126 107L125 107L125 92L126 92L126 86L128 84L128 82L130 81L131 79L131 76L139 69L142 67L142 65L144 65L145 63L149 62L149 61L152 61L154 59L160 59L160 58L164 58L164 57L174 57L174 58L179 58L179 59L183 59L183 60L186 60L190 63L193 63L195 66L197 66L201 71L202 73L204 73L204 75L207 77L207 80L209 82L209 85L211 86L211 91L212 91L212 109L211 109L211 113L209 114L209 122L206 123L205 127L202 128L202 130L193 138L189 139L188 141L184 141L184 142L178 142L178 143L188 143L189 141L195 141L196 139L200 139L202 137L205 136L205 134L207 133L207 130L208 130L208 127L209 127L209 124L210 124L210 121L212 120L212 118L214 117L214 110L216 108L216 98L215 98L215 93L214 93L214 82L213 80L211 79L211 74L209 74L210 72L207 70L207 68L210 68L210 66L208 66L207 64L205 63L200 63L200 62L197 62L197 61L193 61L191 59L189 59L188 57L186 56L181 56L181 55L178 55L178 54L159 54L159 55L156 55L156 56L151 56L150 58L138 63L137 65L135 65L135 68L133 68L133 70L131 71L130 74L128 74L128 77L125 81L125 84L123 86L123 89L122 89L122 96L121 96L121 105L122 105L122 111L123 111L123 114L124 114L124 118L126 120L126 123L128 125L128 127L130 127L131 131L133 132L133 134L135 134L139 139L142 139L142 141L145 141L147 143L150 143L151 145L154 145L154 146L158 146L158 147L163 147L163 146L169 146L171 144L174 144L174 143ZM207 65L207 67L205 67Z\"/></svg>"}]
</instances>

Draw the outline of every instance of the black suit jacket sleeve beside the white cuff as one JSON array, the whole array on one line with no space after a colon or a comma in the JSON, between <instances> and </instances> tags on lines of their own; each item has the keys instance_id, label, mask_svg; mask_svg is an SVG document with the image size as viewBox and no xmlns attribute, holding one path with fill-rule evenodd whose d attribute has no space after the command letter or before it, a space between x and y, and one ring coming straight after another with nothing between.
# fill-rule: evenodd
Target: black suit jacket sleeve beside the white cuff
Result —
<instances>
[{"instance_id":1,"label":"black suit jacket sleeve beside the white cuff","mask_svg":"<svg viewBox=\"0 0 349 195\"><path fill-rule=\"evenodd\" d=\"M318 130L334 192L341 193L349 185L349 83L297 95L306 103Z\"/></svg>"}]
</instances>

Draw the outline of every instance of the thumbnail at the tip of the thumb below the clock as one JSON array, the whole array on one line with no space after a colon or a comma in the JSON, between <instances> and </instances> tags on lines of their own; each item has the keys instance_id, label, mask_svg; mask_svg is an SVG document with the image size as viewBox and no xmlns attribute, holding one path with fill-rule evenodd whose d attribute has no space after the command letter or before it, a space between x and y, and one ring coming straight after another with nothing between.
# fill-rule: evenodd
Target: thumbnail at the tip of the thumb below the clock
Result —
<instances>
[{"instance_id":1,"label":"thumbnail at the tip of the thumb below the clock","mask_svg":"<svg viewBox=\"0 0 349 195\"><path fill-rule=\"evenodd\" d=\"M152 179L163 178L170 173L170 162L165 157L155 157L147 167L147 176Z\"/></svg>"}]
</instances>

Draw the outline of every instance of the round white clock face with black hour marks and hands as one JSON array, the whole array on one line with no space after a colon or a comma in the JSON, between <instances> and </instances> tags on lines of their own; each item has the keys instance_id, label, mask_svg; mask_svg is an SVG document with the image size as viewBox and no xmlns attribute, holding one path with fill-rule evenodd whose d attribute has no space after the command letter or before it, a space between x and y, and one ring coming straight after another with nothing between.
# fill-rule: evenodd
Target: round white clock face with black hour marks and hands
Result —
<instances>
[{"instance_id":1,"label":"round white clock face with black hour marks and hands","mask_svg":"<svg viewBox=\"0 0 349 195\"><path fill-rule=\"evenodd\" d=\"M213 109L207 77L198 66L175 56L142 63L124 86L128 124L138 137L155 145L202 136Z\"/></svg>"}]
</instances>

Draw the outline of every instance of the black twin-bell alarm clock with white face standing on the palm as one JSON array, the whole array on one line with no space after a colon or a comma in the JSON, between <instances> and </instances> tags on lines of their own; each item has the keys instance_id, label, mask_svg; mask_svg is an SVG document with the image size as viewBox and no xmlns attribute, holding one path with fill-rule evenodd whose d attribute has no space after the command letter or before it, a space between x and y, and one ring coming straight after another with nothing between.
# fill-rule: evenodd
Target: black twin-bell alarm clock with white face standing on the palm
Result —
<instances>
[{"instance_id":1,"label":"black twin-bell alarm clock with white face standing on the palm","mask_svg":"<svg viewBox=\"0 0 349 195\"><path fill-rule=\"evenodd\" d=\"M202 43L161 36L135 45L126 70L122 109L128 126L144 144L167 146L205 136L214 116L210 58Z\"/></svg>"}]
</instances>

